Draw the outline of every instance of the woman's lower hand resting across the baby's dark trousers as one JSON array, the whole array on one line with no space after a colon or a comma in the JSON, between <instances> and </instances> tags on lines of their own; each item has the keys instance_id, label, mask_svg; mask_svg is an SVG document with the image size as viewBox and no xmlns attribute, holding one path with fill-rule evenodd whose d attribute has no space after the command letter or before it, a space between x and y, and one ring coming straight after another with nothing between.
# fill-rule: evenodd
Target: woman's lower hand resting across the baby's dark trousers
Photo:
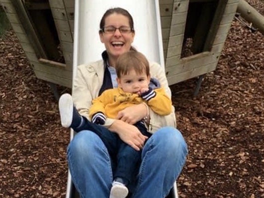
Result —
<instances>
[{"instance_id":1,"label":"woman's lower hand resting across the baby's dark trousers","mask_svg":"<svg viewBox=\"0 0 264 198\"><path fill-rule=\"evenodd\" d=\"M115 120L109 130L116 132L123 142L137 151L143 148L147 139L147 136L142 135L135 126L122 120Z\"/></svg>"}]
</instances>

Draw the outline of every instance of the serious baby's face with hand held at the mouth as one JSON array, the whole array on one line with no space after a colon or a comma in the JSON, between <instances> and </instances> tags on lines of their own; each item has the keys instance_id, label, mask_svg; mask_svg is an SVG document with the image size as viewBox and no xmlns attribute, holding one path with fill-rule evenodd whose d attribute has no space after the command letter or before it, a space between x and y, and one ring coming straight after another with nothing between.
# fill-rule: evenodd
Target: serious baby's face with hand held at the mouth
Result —
<instances>
[{"instance_id":1,"label":"serious baby's face with hand held at the mouth","mask_svg":"<svg viewBox=\"0 0 264 198\"><path fill-rule=\"evenodd\" d=\"M127 75L122 75L118 79L119 87L127 93L138 93L142 88L148 88L150 77L145 73L137 74L135 70L131 70Z\"/></svg>"}]
</instances>

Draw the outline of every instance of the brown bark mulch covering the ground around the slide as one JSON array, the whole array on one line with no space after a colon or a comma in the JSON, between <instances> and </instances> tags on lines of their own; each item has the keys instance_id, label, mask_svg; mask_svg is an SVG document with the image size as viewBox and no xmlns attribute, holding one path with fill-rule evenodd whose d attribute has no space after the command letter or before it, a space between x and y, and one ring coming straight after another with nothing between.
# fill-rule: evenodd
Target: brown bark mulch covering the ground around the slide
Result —
<instances>
[{"instance_id":1,"label":"brown bark mulch covering the ground around the slide","mask_svg":"<svg viewBox=\"0 0 264 198\"><path fill-rule=\"evenodd\" d=\"M234 20L217 69L193 97L196 81L171 86L189 147L179 197L264 197L264 35ZM0 197L64 198L69 130L13 31L0 38L0 85Z\"/></svg>"}]
</instances>

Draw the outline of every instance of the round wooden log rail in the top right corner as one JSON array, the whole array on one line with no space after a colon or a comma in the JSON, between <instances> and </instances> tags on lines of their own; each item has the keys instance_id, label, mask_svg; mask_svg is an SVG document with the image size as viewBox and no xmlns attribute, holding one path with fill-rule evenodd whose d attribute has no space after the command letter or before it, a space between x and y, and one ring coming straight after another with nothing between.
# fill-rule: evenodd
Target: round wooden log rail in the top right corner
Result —
<instances>
[{"instance_id":1,"label":"round wooden log rail in the top right corner","mask_svg":"<svg viewBox=\"0 0 264 198\"><path fill-rule=\"evenodd\" d=\"M264 16L245 0L240 0L237 12L264 35Z\"/></svg>"}]
</instances>

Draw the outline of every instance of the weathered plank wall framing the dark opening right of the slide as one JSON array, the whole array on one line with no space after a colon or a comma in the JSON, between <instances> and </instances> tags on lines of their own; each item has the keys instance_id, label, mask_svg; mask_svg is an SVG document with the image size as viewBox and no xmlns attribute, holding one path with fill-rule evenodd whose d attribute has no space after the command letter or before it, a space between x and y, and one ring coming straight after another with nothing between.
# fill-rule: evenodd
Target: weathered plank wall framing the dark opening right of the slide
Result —
<instances>
[{"instance_id":1,"label":"weathered plank wall framing the dark opening right of the slide","mask_svg":"<svg viewBox=\"0 0 264 198\"><path fill-rule=\"evenodd\" d=\"M182 6L184 8L181 7L181 9L178 10L173 9L170 27L167 27L169 17L167 16L167 18L163 18L164 28L162 29L162 34L167 37L169 33L168 41L166 39L163 41L163 43L168 46L167 50L164 49L164 54L166 53L165 71L169 85L206 74L216 68L231 26L231 22L235 15L238 2L239 0L229 0L227 2L223 17L220 20L220 25L217 27L217 32L210 52L203 52L181 59L181 46L186 20L184 17L187 16L189 1L174 1L174 7L177 5L176 3L180 3L181 6L184 5ZM166 15L165 12L163 14ZM165 21L166 19L167 21Z\"/></svg>"}]
</instances>

